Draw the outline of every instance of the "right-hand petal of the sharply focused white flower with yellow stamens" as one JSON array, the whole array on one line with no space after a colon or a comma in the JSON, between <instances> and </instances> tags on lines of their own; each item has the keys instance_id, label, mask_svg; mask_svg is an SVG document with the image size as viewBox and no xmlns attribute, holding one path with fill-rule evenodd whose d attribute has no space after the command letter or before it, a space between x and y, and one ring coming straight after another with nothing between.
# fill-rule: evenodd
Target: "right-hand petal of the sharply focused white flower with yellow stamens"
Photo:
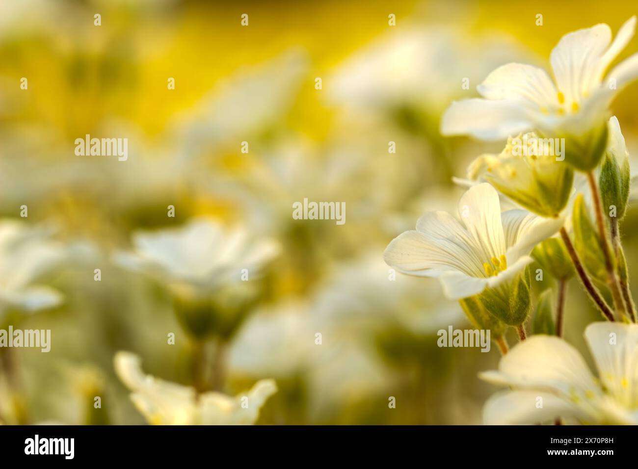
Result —
<instances>
[{"instance_id":1,"label":"right-hand petal of the sharply focused white flower with yellow stamens","mask_svg":"<svg viewBox=\"0 0 638 469\"><path fill-rule=\"evenodd\" d=\"M501 213L507 244L507 262L528 255L539 242L551 237L563 226L564 219L543 218L525 210Z\"/></svg>"}]
</instances>

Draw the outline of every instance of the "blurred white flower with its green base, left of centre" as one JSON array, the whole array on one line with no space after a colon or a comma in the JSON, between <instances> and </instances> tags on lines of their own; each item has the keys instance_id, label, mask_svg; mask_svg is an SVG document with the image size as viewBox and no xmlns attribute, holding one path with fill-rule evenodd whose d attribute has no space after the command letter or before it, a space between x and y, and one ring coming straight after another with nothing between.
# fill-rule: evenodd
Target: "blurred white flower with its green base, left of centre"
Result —
<instances>
[{"instance_id":1,"label":"blurred white flower with its green base, left of centre","mask_svg":"<svg viewBox=\"0 0 638 469\"><path fill-rule=\"evenodd\" d=\"M258 297L255 282L279 252L272 239L255 239L244 228L226 229L208 219L133 236L132 253L116 260L165 285L175 314L196 338L229 338Z\"/></svg>"}]
</instances>

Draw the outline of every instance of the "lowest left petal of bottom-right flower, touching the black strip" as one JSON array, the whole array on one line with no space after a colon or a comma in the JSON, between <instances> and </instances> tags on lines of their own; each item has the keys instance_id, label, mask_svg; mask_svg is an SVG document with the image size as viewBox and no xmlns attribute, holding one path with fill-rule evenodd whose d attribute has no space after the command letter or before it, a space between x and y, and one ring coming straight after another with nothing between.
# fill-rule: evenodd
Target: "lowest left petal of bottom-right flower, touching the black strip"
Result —
<instances>
[{"instance_id":1,"label":"lowest left petal of bottom-right flower, touching the black strip","mask_svg":"<svg viewBox=\"0 0 638 469\"><path fill-rule=\"evenodd\" d=\"M553 422L556 417L582 418L586 415L570 401L540 391L498 392L483 408L486 425L539 424Z\"/></svg>"}]
</instances>

